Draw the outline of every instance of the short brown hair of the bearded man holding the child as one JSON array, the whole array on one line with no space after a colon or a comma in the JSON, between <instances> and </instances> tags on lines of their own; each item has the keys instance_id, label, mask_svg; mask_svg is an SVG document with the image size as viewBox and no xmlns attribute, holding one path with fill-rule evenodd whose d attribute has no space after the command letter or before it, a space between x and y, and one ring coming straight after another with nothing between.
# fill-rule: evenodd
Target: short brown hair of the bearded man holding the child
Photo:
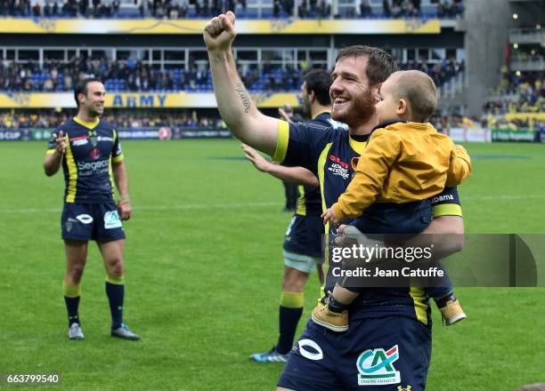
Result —
<instances>
[{"instance_id":1,"label":"short brown hair of the bearded man holding the child","mask_svg":"<svg viewBox=\"0 0 545 391\"><path fill-rule=\"evenodd\" d=\"M378 49L378 47L365 46L362 44L356 44L341 49L341 51L338 52L335 62L346 57L362 56L366 56L368 59L365 74L369 79L370 85L383 83L397 70L397 64L391 54L382 49Z\"/></svg>"}]
</instances>

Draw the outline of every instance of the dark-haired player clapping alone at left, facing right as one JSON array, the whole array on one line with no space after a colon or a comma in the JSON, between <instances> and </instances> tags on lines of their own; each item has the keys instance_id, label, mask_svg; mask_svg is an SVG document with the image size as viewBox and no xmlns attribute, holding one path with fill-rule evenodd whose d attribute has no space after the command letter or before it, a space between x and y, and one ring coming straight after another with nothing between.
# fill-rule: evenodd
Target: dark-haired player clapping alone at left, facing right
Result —
<instances>
[{"instance_id":1,"label":"dark-haired player clapping alone at left, facing right","mask_svg":"<svg viewBox=\"0 0 545 391\"><path fill-rule=\"evenodd\" d=\"M118 132L100 118L105 94L98 78L86 78L76 85L77 116L52 134L44 170L50 177L62 164L66 183L61 232L67 267L62 291L68 310L69 339L84 339L78 313L81 277L88 242L94 240L106 268L110 334L137 340L140 337L123 323L125 233L121 220L130 219L132 208ZM118 204L114 201L114 181L119 191Z\"/></svg>"}]
</instances>

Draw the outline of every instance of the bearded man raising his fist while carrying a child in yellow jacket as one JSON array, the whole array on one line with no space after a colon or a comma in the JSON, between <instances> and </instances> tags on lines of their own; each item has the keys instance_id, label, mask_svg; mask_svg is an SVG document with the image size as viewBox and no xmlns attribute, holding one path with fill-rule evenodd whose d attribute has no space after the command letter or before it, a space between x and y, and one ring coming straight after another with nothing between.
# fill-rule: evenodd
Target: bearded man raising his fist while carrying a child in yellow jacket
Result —
<instances>
[{"instance_id":1,"label":"bearded man raising his fist while carrying a child in yellow jacket","mask_svg":"<svg viewBox=\"0 0 545 391\"><path fill-rule=\"evenodd\" d=\"M333 128L313 132L306 124L289 124L264 116L237 73L232 57L235 16L227 12L210 20L204 29L214 92L225 124L235 137L273 160L303 166L320 182L322 209L336 203L350 183L351 160L364 153L370 132L378 125L374 110L378 90L396 70L386 52L369 46L350 46L338 53L329 89L333 119L348 125L348 132ZM425 233L463 234L456 188L447 188L433 205L435 219ZM326 226L326 235L337 235ZM460 251L460 241L438 243L442 256ZM328 262L328 248L325 261ZM438 258L440 256L438 255ZM327 264L325 265L327 267ZM328 269L322 302L337 278ZM350 328L329 331L310 321L278 383L279 390L333 391L339 389L413 391L426 387L431 358L431 312L422 287L369 288L350 307Z\"/></svg>"}]
</instances>

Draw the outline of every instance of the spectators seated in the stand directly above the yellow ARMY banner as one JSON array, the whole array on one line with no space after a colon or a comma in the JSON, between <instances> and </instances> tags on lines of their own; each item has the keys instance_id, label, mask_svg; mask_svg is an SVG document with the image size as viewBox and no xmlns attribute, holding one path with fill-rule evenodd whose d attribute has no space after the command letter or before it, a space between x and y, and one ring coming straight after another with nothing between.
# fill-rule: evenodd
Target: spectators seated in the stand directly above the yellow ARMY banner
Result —
<instances>
[{"instance_id":1,"label":"spectators seated in the stand directly above the yellow ARMY banner","mask_svg":"<svg viewBox=\"0 0 545 391\"><path fill-rule=\"evenodd\" d=\"M304 68L312 64L304 64ZM464 69L463 62L443 60L437 63L410 61L400 64L403 69L417 68L427 72L441 85ZM274 68L267 61L258 68L239 67L242 81L250 91L298 91L302 81L301 70L293 67ZM190 67L164 69L152 68L148 63L129 59L112 61L105 58L90 59L74 56L68 62L45 60L42 68L29 60L14 63L0 58L0 91L7 92L64 92L71 91L77 80L89 75L99 76L108 92L212 92L212 78L207 68Z\"/></svg>"}]
</instances>

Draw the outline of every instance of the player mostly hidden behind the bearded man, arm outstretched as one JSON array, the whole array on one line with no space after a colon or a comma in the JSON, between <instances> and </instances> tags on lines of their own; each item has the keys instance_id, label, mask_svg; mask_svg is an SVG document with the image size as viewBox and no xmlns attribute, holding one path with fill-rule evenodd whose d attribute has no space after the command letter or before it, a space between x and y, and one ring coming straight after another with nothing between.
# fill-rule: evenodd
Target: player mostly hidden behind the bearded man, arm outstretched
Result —
<instances>
[{"instance_id":1,"label":"player mostly hidden behind the bearded man, arm outstretched","mask_svg":"<svg viewBox=\"0 0 545 391\"><path fill-rule=\"evenodd\" d=\"M331 119L331 101L329 86L331 75L322 69L313 69L303 77L301 100L305 114L312 117L307 122L314 132L322 132L332 126L344 129ZM288 116L283 117L289 121ZM297 210L289 223L283 245L284 275L279 308L279 337L276 345L264 353L250 355L258 363L285 363L293 347L297 324L303 315L305 305L305 283L313 268L316 267L320 280L321 269L321 195L318 179L313 172L303 167L286 167L273 164L259 155L254 148L242 147L248 160L256 169L267 172L273 177L299 185ZM322 283L323 281L321 281Z\"/></svg>"}]
</instances>

